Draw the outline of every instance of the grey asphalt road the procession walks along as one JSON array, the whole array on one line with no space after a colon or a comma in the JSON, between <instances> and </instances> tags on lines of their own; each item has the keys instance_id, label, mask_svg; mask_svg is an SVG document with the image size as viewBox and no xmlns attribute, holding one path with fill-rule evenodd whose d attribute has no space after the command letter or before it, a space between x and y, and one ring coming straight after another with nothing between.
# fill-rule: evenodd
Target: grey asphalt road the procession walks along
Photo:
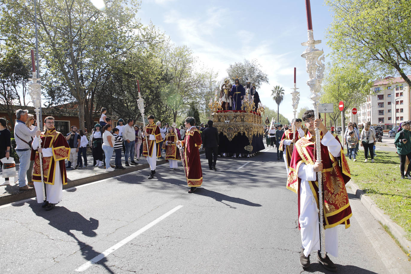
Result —
<instances>
[{"instance_id":1,"label":"grey asphalt road the procession walks along","mask_svg":"<svg viewBox=\"0 0 411 274\"><path fill-rule=\"evenodd\" d=\"M219 158L217 171L202 155L204 182L193 194L180 163L157 167L154 180L141 170L69 189L50 212L35 200L1 206L1 272L301 273L297 196L275 152ZM339 273L411 273L405 254L349 197L351 227L339 227L332 258ZM311 258L309 272L328 273Z\"/></svg>"}]
</instances>

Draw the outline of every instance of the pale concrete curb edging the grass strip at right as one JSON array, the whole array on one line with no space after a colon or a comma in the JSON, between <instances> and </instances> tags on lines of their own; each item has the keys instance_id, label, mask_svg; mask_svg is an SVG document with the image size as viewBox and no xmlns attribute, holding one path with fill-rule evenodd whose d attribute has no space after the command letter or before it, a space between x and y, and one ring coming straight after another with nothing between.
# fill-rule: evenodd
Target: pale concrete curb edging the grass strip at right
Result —
<instances>
[{"instance_id":1,"label":"pale concrete curb edging the grass strip at right","mask_svg":"<svg viewBox=\"0 0 411 274\"><path fill-rule=\"evenodd\" d=\"M363 203L363 205L367 208L369 213L371 213L372 216L374 216L374 218L377 219L377 221L388 227L388 229L395 237L395 239L399 242L399 244L402 246L402 248L406 251L410 250L411 241L405 238L406 233L404 229L402 229L402 227L400 227L393 220L391 220L391 218L388 215L384 214L383 210L377 207L374 200L366 196L364 191L360 189L358 185L354 184L351 181L348 182L348 185L355 193L357 198L360 199L361 203Z\"/></svg>"}]
</instances>

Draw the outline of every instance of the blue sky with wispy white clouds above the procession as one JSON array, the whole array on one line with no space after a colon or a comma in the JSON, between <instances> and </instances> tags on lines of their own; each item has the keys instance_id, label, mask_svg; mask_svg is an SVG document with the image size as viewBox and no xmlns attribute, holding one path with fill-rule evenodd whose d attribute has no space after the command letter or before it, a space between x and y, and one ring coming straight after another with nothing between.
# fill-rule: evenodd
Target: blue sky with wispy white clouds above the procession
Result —
<instances>
[{"instance_id":1,"label":"blue sky with wispy white clouds above the procession","mask_svg":"<svg viewBox=\"0 0 411 274\"><path fill-rule=\"evenodd\" d=\"M332 16L322 0L312 0L311 10L314 39L322 40L317 48L328 54L324 36ZM200 62L218 72L219 80L226 76L229 64L257 59L270 82L258 90L261 101L276 110L271 89L275 85L284 87L280 113L290 120L296 67L298 108L312 106L305 83L305 59L301 57L305 50L301 43L307 41L304 0L142 0L137 17L144 25L151 20L174 44L189 46Z\"/></svg>"}]
</instances>

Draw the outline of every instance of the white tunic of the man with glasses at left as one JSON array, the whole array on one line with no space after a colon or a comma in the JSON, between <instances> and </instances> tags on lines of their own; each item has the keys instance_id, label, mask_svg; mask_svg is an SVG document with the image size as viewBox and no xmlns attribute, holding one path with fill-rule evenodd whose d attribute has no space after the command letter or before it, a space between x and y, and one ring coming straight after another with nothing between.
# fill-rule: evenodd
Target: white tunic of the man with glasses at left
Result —
<instances>
[{"instance_id":1,"label":"white tunic of the man with glasses at left","mask_svg":"<svg viewBox=\"0 0 411 274\"><path fill-rule=\"evenodd\" d=\"M32 147L33 149L37 149L39 146L39 141L37 139L37 136L34 138ZM51 147L48 148L43 148L42 150L43 157L53 157L53 149ZM60 160L64 161L64 160ZM63 196L63 182L61 180L61 175L60 175L60 164L59 161L55 162L55 174L56 176L54 177L54 184L45 184L46 185L46 199L48 203L52 204L57 204L61 201L62 196ZM37 203L43 203L44 202L44 193L43 193L43 186L42 182L33 182L34 183L34 188L36 191L36 196L37 196Z\"/></svg>"}]
</instances>

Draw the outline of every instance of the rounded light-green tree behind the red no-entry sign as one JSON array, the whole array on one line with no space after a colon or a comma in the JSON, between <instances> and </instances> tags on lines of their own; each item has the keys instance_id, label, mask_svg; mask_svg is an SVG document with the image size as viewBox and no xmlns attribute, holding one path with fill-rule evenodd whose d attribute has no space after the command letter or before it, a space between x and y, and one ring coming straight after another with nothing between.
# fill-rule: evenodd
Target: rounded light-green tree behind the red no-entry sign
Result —
<instances>
[{"instance_id":1,"label":"rounded light-green tree behind the red no-entry sign","mask_svg":"<svg viewBox=\"0 0 411 274\"><path fill-rule=\"evenodd\" d=\"M345 111L365 102L373 82L369 74L351 64L328 64L327 67L330 69L323 81L321 101L334 104L334 113L330 113L334 124L339 116L338 102L343 101L342 115L345 124Z\"/></svg>"}]
</instances>

